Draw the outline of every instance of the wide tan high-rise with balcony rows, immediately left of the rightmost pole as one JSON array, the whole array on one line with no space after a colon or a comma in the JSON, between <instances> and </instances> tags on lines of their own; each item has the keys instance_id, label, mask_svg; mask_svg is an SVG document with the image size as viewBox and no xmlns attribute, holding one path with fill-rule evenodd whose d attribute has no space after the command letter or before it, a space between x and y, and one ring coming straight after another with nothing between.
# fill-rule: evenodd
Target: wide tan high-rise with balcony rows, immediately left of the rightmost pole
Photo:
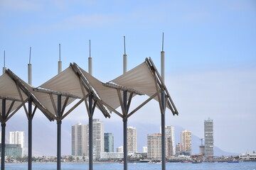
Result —
<instances>
[{"instance_id":1,"label":"wide tan high-rise with balcony rows, immediately left of the rightmost pole","mask_svg":"<svg viewBox=\"0 0 256 170\"><path fill-rule=\"evenodd\" d=\"M146 136L147 157L149 159L161 159L161 133Z\"/></svg>"}]
</instances>

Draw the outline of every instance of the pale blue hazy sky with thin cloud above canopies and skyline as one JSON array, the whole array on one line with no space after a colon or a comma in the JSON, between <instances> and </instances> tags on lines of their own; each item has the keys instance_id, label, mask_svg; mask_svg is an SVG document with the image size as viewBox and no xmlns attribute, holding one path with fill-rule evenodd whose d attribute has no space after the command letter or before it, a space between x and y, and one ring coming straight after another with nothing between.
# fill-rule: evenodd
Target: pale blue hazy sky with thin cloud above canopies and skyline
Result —
<instances>
[{"instance_id":1,"label":"pale blue hazy sky with thin cloud above canopies and skyline","mask_svg":"<svg viewBox=\"0 0 256 170\"><path fill-rule=\"evenodd\" d=\"M91 40L93 76L110 81L122 74L124 35L128 69L151 57L160 70L163 32L166 85L180 113L171 116L167 111L166 125L203 137L203 120L212 118L216 146L227 152L256 150L253 0L0 0L0 65L5 50L6 67L27 81L32 47L32 84L39 86L57 74L59 43L63 69L76 62L87 70ZM129 123L144 120L160 125L159 112L158 104L151 101ZM65 119L79 120L79 116ZM109 121L121 119L113 116Z\"/></svg>"}]
</instances>

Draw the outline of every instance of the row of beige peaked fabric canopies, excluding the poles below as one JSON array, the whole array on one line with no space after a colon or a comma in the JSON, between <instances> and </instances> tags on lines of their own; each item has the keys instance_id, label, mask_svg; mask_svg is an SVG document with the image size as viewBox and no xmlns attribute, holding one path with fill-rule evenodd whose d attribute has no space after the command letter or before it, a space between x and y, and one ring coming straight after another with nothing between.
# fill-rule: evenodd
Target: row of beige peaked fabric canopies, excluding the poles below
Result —
<instances>
[{"instance_id":1,"label":"row of beige peaked fabric canopies, excluding the poles below","mask_svg":"<svg viewBox=\"0 0 256 170\"><path fill-rule=\"evenodd\" d=\"M132 101L132 97L136 95L146 95L149 98L135 108L134 111L124 116L117 111L119 106L122 108L122 91L127 91L128 107ZM28 115L25 103L31 99L35 110L36 108L41 110L48 120L61 121L80 105L80 103L84 102L88 110L87 101L90 94L94 103L93 109L95 107L100 109L106 118L110 118L110 113L114 112L123 119L127 119L152 98L161 102L160 94L162 91L166 94L166 107L174 115L178 115L178 111L171 100L164 81L162 81L159 72L150 58L146 58L142 64L107 83L102 83L95 77L92 77L92 75L85 72L84 69L75 63L70 64L70 67L37 88L27 84L14 74L14 72L11 72L10 69L6 69L6 72L0 77L0 98L6 101L5 115L2 115L3 107L2 102L0 102L0 120L1 123L6 123L21 107L25 109ZM58 113L58 96L61 97L60 114ZM65 107L73 103L73 101L76 101L73 107L65 111ZM159 106L161 111L165 109L160 104ZM35 112L33 111L33 114ZM90 114L89 111L87 113Z\"/></svg>"}]
</instances>

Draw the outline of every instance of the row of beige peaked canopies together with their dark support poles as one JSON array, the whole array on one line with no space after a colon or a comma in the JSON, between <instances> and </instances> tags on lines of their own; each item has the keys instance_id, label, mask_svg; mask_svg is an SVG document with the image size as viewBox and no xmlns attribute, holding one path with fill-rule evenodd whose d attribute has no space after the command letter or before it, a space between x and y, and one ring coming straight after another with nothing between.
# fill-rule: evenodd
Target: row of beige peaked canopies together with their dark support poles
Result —
<instances>
[{"instance_id":1,"label":"row of beige peaked canopies together with their dark support poles","mask_svg":"<svg viewBox=\"0 0 256 170\"><path fill-rule=\"evenodd\" d=\"M146 95L148 98L133 111L129 111L132 98L136 95ZM0 77L1 158L4 157L6 122L23 107L28 118L28 170L32 169L32 119L36 109L39 109L48 120L57 121L57 169L60 170L61 121L77 106L85 103L89 117L89 169L93 169L92 115L97 107L106 118L110 118L112 112L122 118L124 124L124 169L126 170L127 118L153 98L159 102L161 125L164 130L166 108L169 108L173 115L178 115L178 111L150 58L146 58L142 64L107 83L102 83L92 77L75 63L70 64L70 67L38 87L27 84L10 69L6 69ZM28 104L26 105L26 103ZM65 111L66 106L70 103L73 103L73 106ZM117 111L119 107L122 108L121 112ZM162 147L162 152L164 153L164 147ZM165 160L165 157L162 160ZM165 165L165 161L162 162ZM1 159L1 170L4 170L4 159Z\"/></svg>"}]
</instances>

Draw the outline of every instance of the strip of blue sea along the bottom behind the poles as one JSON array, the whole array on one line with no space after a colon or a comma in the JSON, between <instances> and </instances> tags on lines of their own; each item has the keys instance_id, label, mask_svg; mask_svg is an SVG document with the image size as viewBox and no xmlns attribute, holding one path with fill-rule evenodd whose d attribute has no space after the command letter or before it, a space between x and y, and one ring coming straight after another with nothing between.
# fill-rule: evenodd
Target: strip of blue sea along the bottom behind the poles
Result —
<instances>
[{"instance_id":1,"label":"strip of blue sea along the bottom behind the poles","mask_svg":"<svg viewBox=\"0 0 256 170\"><path fill-rule=\"evenodd\" d=\"M28 164L5 164L6 170L26 170ZM56 163L38 163L32 164L33 170L55 170ZM62 170L86 170L89 169L87 163L62 163ZM97 163L93 164L94 170L122 170L123 164L119 163ZM161 164L137 163L128 164L128 170L161 170ZM256 162L239 162L239 163L166 163L166 170L256 170Z\"/></svg>"}]
</instances>

